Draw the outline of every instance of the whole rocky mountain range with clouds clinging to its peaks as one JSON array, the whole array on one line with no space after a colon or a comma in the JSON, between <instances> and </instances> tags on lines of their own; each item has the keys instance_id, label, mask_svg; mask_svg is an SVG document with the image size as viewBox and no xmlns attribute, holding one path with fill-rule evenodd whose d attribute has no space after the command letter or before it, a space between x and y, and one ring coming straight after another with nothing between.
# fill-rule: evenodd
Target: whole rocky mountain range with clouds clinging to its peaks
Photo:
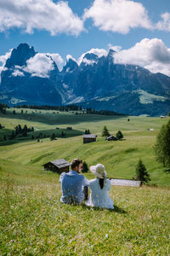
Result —
<instances>
[{"instance_id":1,"label":"whole rocky mountain range with clouds clinging to its peaks","mask_svg":"<svg viewBox=\"0 0 170 256\"><path fill-rule=\"evenodd\" d=\"M1 72L0 101L8 105L66 105L150 116L170 111L170 77L144 67L114 62L116 52L89 51L67 57L59 70L53 54L28 44L11 50Z\"/></svg>"}]
</instances>

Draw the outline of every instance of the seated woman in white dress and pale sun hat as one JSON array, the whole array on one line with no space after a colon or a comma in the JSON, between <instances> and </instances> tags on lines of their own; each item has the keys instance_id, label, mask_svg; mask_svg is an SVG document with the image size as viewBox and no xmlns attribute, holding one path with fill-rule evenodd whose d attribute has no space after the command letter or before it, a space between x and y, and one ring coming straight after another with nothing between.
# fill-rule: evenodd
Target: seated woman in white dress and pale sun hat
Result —
<instances>
[{"instance_id":1,"label":"seated woman in white dress and pale sun hat","mask_svg":"<svg viewBox=\"0 0 170 256\"><path fill-rule=\"evenodd\" d=\"M98 164L90 166L90 171L96 178L89 180L91 194L86 201L88 207L101 207L113 209L113 201L109 196L111 190L111 181L106 178L105 166Z\"/></svg>"}]
</instances>

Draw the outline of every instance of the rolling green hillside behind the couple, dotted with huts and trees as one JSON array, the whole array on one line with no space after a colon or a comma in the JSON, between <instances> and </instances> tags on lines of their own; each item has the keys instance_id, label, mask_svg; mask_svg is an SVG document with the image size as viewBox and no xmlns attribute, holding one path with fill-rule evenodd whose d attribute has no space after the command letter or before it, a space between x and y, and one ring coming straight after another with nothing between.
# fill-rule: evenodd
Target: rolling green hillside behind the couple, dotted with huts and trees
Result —
<instances>
[{"instance_id":1,"label":"rolling green hillside behind the couple, dotted with huts and trees","mask_svg":"<svg viewBox=\"0 0 170 256\"><path fill-rule=\"evenodd\" d=\"M13 114L11 108L8 111L6 115L1 115L0 122L5 128L0 130L0 137L3 138L7 130L11 133L14 126L18 124L22 127L25 124L28 127L33 126L34 132L29 132L28 137L16 137L14 140L1 142L3 147L0 147L0 166L4 175L6 172L13 173L14 165L22 167L23 170L27 168L29 172L36 170L39 174L42 172L42 164L49 160L65 158L71 161L75 157L80 157L87 161L88 166L99 162L104 164L109 177L132 178L135 174L135 166L141 158L150 173L150 183L170 185L170 174L164 172L167 169L163 169L162 165L156 162L153 150L156 134L168 118L129 117L130 121L127 121L127 117L56 113L58 121L51 125L54 122L52 111L36 113L34 110L34 119L31 120L21 119L23 114L17 113L20 109L15 109L16 114ZM27 109L27 114L31 112L32 110ZM27 114L24 115L27 116ZM41 122L38 121L40 118ZM69 125L73 128L72 131L66 130ZM105 141L105 138L101 137L104 125L107 125L111 134L114 135L116 131L121 130L124 139L116 142ZM55 129L56 126L59 130ZM154 128L154 131L148 131L149 128ZM86 129L98 135L96 143L82 143L82 133ZM64 138L60 137L61 131L65 131ZM39 132L48 136L55 132L58 140L50 141L49 138L42 138L41 143L37 143L36 139L31 140L31 134L36 137ZM20 175L20 171L16 170L16 173ZM91 174L88 176L91 177Z\"/></svg>"}]
</instances>

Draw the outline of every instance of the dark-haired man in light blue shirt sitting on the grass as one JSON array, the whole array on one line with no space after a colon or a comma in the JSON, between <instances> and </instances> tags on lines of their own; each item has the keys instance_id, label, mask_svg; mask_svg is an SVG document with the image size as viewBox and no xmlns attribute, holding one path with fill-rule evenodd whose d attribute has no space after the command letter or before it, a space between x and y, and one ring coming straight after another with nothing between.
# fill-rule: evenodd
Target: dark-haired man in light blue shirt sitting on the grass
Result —
<instances>
[{"instance_id":1,"label":"dark-haired man in light blue shirt sitting on the grass","mask_svg":"<svg viewBox=\"0 0 170 256\"><path fill-rule=\"evenodd\" d=\"M79 173L82 170L82 160L71 161L71 171L63 172L59 177L61 183L62 196L60 201L65 204L82 204L87 198L88 179Z\"/></svg>"}]
</instances>

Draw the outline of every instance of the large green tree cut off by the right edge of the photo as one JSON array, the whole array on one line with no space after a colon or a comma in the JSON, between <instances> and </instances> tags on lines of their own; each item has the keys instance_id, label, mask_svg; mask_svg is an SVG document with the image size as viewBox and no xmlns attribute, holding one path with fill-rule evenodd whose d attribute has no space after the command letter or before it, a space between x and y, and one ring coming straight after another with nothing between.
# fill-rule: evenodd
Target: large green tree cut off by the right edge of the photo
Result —
<instances>
[{"instance_id":1,"label":"large green tree cut off by the right edge of the photo","mask_svg":"<svg viewBox=\"0 0 170 256\"><path fill-rule=\"evenodd\" d=\"M167 125L161 126L161 130L156 137L154 149L156 160L161 162L164 167L170 166L170 120Z\"/></svg>"}]
</instances>

